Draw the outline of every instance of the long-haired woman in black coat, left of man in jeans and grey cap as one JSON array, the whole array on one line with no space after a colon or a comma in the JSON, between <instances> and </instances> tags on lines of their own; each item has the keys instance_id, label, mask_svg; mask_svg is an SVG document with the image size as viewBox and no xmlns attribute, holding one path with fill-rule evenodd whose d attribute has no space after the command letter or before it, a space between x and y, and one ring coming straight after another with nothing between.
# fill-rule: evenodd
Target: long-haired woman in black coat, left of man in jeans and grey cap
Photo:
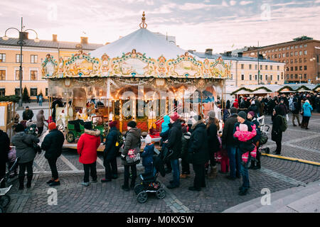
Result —
<instances>
[{"instance_id":1,"label":"long-haired woman in black coat, left of man in jeans and grey cap","mask_svg":"<svg viewBox=\"0 0 320 227\"><path fill-rule=\"evenodd\" d=\"M208 135L208 153L210 158L210 173L208 174L209 179L213 179L217 177L217 162L215 162L215 153L219 150L219 140L218 140L218 130L219 124L217 126L216 121L218 119L215 118L215 112L210 111L208 113L209 119L206 127L207 135Z\"/></svg>"}]
</instances>

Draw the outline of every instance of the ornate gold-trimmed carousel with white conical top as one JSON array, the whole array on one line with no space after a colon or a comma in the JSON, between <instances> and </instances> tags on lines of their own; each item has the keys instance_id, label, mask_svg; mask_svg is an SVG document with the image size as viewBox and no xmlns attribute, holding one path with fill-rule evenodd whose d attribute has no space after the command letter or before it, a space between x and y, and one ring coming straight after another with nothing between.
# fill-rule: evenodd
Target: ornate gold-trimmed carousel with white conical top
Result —
<instances>
[{"instance_id":1,"label":"ornate gold-trimmed carousel with white conical top","mask_svg":"<svg viewBox=\"0 0 320 227\"><path fill-rule=\"evenodd\" d=\"M42 64L55 121L75 143L84 121L105 135L107 123L117 121L127 131L129 121L151 137L159 137L164 115L182 118L215 110L215 100L225 87L230 69L221 57L201 61L146 29L140 28L90 53L81 50L68 60L47 55ZM223 98L223 94L221 96Z\"/></svg>"}]
</instances>

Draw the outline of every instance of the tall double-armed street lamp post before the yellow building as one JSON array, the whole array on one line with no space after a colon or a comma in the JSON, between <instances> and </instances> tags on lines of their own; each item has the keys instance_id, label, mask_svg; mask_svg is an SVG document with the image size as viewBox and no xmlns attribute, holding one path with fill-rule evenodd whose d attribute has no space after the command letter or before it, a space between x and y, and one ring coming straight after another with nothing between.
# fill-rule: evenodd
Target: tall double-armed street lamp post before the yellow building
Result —
<instances>
[{"instance_id":1,"label":"tall double-armed street lamp post before the yellow building","mask_svg":"<svg viewBox=\"0 0 320 227\"><path fill-rule=\"evenodd\" d=\"M23 45L26 45L26 42L24 42L23 40L25 39L23 37L23 34L26 33L26 31L34 31L33 29L26 29L23 31L23 28L25 28L25 26L23 26L23 18L21 17L21 30L19 31L18 28L8 28L6 29L6 32L9 31L10 29L14 29L16 31L18 31L19 33L19 40L17 42L17 44L20 46L20 67L19 67L19 80L20 80L20 100L19 100L19 104L18 104L18 108L17 109L23 109L22 107L22 47ZM9 40L9 37L6 36L6 32L4 33L4 36L2 37L3 40ZM36 33L36 31L34 31ZM34 41L36 43L40 42L40 40L38 39L38 33L36 33L36 38L34 39Z\"/></svg>"}]
</instances>

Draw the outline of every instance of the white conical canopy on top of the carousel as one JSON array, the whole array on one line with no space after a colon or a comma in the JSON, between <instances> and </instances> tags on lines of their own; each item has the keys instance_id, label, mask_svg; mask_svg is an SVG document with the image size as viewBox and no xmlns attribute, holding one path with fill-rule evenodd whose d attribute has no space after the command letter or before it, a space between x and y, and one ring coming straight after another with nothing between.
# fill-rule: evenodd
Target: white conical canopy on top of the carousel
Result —
<instances>
[{"instance_id":1,"label":"white conical canopy on top of the carousel","mask_svg":"<svg viewBox=\"0 0 320 227\"><path fill-rule=\"evenodd\" d=\"M90 52L90 55L97 58L101 58L103 54L109 55L110 58L122 57L123 53L131 52L133 49L154 59L158 59L161 55L164 55L166 59L176 59L178 55L183 55L186 52L148 29L140 28L113 43L97 48L97 50ZM196 57L196 59L198 58Z\"/></svg>"}]
</instances>

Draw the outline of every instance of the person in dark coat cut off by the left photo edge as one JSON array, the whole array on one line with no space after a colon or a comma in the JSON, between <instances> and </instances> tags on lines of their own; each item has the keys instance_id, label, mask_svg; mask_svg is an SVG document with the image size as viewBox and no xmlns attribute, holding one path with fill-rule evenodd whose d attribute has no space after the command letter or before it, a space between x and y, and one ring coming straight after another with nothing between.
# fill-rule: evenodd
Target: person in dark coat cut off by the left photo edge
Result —
<instances>
[{"instance_id":1,"label":"person in dark coat cut off by the left photo edge","mask_svg":"<svg viewBox=\"0 0 320 227\"><path fill-rule=\"evenodd\" d=\"M6 162L8 162L8 153L10 148L10 139L8 134L0 130L0 179L6 175ZM0 188L5 187L5 182L2 182Z\"/></svg>"}]
</instances>

